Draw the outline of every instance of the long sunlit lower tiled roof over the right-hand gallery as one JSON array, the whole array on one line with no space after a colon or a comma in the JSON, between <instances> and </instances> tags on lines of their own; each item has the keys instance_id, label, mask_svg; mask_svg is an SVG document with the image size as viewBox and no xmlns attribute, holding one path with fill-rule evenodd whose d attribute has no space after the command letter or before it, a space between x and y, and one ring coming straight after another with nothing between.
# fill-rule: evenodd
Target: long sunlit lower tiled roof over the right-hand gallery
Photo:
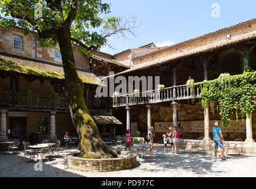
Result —
<instances>
[{"instance_id":1,"label":"long sunlit lower tiled roof over the right-hand gallery","mask_svg":"<svg viewBox=\"0 0 256 189\"><path fill-rule=\"evenodd\" d=\"M215 50L216 48L224 47L226 45L231 45L234 43L239 43L244 40L250 40L252 38L256 38L256 31L252 31L252 32L249 32L249 33L243 34L243 35L239 35L237 37L225 39L223 41L218 41L216 43L212 43L209 45L204 45L202 47L193 48L191 50L187 50L182 53L171 54L170 56L166 56L163 58L158 58L155 60L147 61L145 63L137 64L132 69L125 70L125 71L119 72L117 74L114 74L112 76L107 76L105 78L122 75L122 74L129 73L129 72L132 72L135 70L147 69L149 67L158 66L158 65L166 63L168 61L173 61L173 60L177 60L179 58L191 56L193 54L204 53L206 51Z\"/></svg>"}]
</instances>

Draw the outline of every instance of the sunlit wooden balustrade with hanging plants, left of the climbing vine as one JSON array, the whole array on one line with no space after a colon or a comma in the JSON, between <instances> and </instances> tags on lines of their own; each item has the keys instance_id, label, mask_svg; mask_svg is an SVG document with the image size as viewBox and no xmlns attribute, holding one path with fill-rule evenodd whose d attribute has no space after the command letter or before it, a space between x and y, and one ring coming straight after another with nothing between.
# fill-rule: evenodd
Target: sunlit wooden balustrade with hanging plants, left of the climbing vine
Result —
<instances>
[{"instance_id":1,"label":"sunlit wooden balustrade with hanging plants, left of the climbing vine","mask_svg":"<svg viewBox=\"0 0 256 189\"><path fill-rule=\"evenodd\" d=\"M186 85L166 87L162 91L151 90L147 92L140 92L134 96L134 94L125 94L113 99L113 107L132 106L132 105L146 105L153 103L168 102L173 100L185 100L192 98L200 98L201 93L200 86L194 87L194 93L192 88L186 90Z\"/></svg>"}]
</instances>

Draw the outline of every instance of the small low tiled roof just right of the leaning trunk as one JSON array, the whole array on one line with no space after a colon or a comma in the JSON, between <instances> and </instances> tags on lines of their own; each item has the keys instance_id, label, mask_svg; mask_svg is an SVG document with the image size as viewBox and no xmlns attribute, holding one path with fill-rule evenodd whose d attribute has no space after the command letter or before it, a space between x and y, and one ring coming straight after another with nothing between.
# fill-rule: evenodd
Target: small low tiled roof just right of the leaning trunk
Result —
<instances>
[{"instance_id":1,"label":"small low tiled roof just right of the leaning trunk","mask_svg":"<svg viewBox=\"0 0 256 189\"><path fill-rule=\"evenodd\" d=\"M89 110L92 119L95 121L96 125L121 125L118 119L112 116L106 110Z\"/></svg>"}]
</instances>

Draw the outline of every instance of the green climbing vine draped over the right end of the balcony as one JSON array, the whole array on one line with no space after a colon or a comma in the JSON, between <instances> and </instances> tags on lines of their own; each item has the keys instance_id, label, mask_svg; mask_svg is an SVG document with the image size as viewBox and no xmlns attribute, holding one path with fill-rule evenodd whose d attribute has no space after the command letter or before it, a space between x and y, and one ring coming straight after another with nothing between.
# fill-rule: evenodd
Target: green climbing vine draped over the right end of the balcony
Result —
<instances>
[{"instance_id":1,"label":"green climbing vine draped over the right end of the balcony","mask_svg":"<svg viewBox=\"0 0 256 189\"><path fill-rule=\"evenodd\" d=\"M244 73L230 76L221 74L218 79L196 83L202 87L202 106L205 108L209 102L214 109L214 102L219 102L219 112L222 125L231 126L232 110L235 109L236 119L241 115L251 113L256 105L256 71L244 71Z\"/></svg>"}]
</instances>

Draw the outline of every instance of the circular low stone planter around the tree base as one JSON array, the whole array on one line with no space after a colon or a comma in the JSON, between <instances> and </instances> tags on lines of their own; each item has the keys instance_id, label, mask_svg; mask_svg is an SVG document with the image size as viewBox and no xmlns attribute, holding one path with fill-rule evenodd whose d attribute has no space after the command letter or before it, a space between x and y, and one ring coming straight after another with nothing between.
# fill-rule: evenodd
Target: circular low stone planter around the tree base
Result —
<instances>
[{"instance_id":1,"label":"circular low stone planter around the tree base","mask_svg":"<svg viewBox=\"0 0 256 189\"><path fill-rule=\"evenodd\" d=\"M136 165L137 155L132 152L115 151L119 158L87 159L78 157L80 153L67 155L67 167L72 170L108 172L127 170Z\"/></svg>"}]
</instances>

